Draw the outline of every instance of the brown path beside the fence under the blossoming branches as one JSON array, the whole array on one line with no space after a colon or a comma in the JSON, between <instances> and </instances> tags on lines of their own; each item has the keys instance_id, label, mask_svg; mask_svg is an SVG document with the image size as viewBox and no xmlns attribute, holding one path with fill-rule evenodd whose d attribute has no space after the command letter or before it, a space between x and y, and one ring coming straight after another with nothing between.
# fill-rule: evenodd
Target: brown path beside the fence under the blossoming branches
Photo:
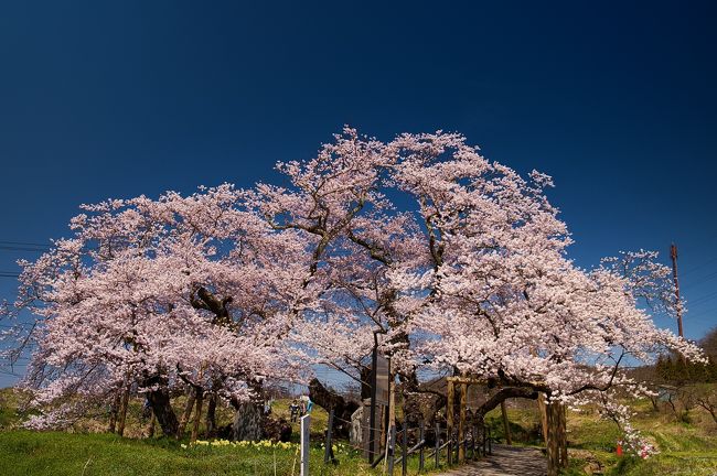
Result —
<instances>
[{"instance_id":1,"label":"brown path beside the fence under the blossoming branches","mask_svg":"<svg viewBox=\"0 0 717 476\"><path fill-rule=\"evenodd\" d=\"M539 450L493 445L493 455L441 476L545 476L545 456Z\"/></svg>"}]
</instances>

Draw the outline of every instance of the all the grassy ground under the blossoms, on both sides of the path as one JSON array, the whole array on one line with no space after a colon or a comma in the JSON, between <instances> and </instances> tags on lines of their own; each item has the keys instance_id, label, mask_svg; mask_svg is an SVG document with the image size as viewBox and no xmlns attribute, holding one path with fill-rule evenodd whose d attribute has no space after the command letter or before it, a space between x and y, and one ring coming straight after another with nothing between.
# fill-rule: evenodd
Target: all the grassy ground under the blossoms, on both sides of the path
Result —
<instances>
[{"instance_id":1,"label":"all the grassy ground under the blossoms, on both sides of the path","mask_svg":"<svg viewBox=\"0 0 717 476\"><path fill-rule=\"evenodd\" d=\"M181 447L180 442L168 439L120 439L109 434L83 433L88 429L104 429L103 422L89 422L75 429L76 434L60 432L28 432L10 430L18 421L14 411L17 398L0 391L0 475L274 475L276 452L277 475L290 475L296 455L291 448L195 446ZM278 401L274 413L288 418L289 401ZM141 434L139 411L135 402L128 419L128 433ZM617 426L600 420L595 412L570 412L568 440L571 465L567 474L586 474L586 468L601 467L606 474L625 476L714 476L717 475L717 425L705 412L695 410L691 424L672 421L668 415L655 413L649 402L634 403L633 420L661 454L648 461L632 457L618 458L614 454L620 437ZM511 429L517 444L539 445L539 419L532 405L509 409ZM231 412L222 412L226 423ZM327 413L317 408L312 414L312 433L323 432ZM493 435L503 437L500 411L488 415ZM295 440L298 424L295 424ZM318 441L314 440L314 441ZM339 448L341 461L336 467L323 467L323 452L317 443L311 453L314 474L376 475L356 452L345 444ZM410 462L416 474L417 463ZM298 462L297 468L298 470ZM297 473L298 474L298 473Z\"/></svg>"}]
</instances>

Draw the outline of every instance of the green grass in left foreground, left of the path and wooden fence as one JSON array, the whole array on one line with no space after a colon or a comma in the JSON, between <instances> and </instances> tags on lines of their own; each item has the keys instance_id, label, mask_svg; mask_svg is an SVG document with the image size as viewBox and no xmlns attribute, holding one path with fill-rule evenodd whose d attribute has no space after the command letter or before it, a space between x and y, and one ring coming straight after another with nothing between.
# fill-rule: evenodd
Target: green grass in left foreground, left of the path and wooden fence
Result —
<instances>
[{"instance_id":1,"label":"green grass in left foreground, left of the path and wooden fence","mask_svg":"<svg viewBox=\"0 0 717 476\"><path fill-rule=\"evenodd\" d=\"M210 445L182 447L169 439L132 440L113 434L71 434L12 430L0 433L0 474L20 475L252 475L299 474L297 444ZM379 475L361 455L336 444L338 465L323 464L323 448L312 445L310 470L315 475ZM432 467L432 465L428 465ZM416 458L409 474L417 474ZM293 468L293 473L292 473Z\"/></svg>"}]
</instances>

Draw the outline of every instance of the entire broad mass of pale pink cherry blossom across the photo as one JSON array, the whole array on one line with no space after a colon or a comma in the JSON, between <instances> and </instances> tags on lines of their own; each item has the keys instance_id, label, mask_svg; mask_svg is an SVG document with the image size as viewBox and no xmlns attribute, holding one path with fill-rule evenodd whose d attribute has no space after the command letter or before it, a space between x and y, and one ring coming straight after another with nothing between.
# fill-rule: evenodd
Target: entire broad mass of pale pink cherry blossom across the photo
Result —
<instances>
[{"instance_id":1,"label":"entire broad mass of pale pink cherry blossom across the photo","mask_svg":"<svg viewBox=\"0 0 717 476\"><path fill-rule=\"evenodd\" d=\"M288 183L87 206L72 239L24 263L39 399L135 385L175 433L173 386L238 402L310 364L361 381L379 335L407 397L422 369L488 381L480 416L511 397L638 394L625 363L700 358L651 321L645 304L670 312L653 255L577 267L550 177L460 134L346 128L278 170Z\"/></svg>"}]
</instances>

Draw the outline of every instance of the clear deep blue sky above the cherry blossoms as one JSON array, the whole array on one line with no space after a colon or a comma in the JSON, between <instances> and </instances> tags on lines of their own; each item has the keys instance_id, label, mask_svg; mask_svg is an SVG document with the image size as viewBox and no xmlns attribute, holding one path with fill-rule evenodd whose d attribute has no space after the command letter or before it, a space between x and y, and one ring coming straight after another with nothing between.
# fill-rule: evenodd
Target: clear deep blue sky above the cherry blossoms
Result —
<instances>
[{"instance_id":1,"label":"clear deep blue sky above the cherry blossoms","mask_svg":"<svg viewBox=\"0 0 717 476\"><path fill-rule=\"evenodd\" d=\"M81 203L271 180L344 123L443 129L552 174L581 266L674 240L686 335L717 323L717 3L243 3L2 2L0 241L67 236Z\"/></svg>"}]
</instances>

